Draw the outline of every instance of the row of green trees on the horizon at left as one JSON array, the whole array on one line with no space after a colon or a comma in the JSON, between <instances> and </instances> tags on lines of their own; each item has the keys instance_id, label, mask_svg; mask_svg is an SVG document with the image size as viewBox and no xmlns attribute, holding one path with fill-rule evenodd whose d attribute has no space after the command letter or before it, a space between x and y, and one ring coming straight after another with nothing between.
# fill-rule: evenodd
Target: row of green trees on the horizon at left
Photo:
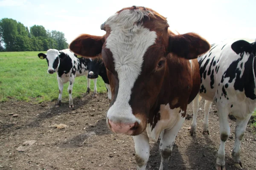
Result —
<instances>
[{"instance_id":1,"label":"row of green trees on the horizon at left","mask_svg":"<svg viewBox=\"0 0 256 170\"><path fill-rule=\"evenodd\" d=\"M68 48L63 32L38 25L29 29L10 18L0 20L0 51L47 51L49 48Z\"/></svg>"}]
</instances>

